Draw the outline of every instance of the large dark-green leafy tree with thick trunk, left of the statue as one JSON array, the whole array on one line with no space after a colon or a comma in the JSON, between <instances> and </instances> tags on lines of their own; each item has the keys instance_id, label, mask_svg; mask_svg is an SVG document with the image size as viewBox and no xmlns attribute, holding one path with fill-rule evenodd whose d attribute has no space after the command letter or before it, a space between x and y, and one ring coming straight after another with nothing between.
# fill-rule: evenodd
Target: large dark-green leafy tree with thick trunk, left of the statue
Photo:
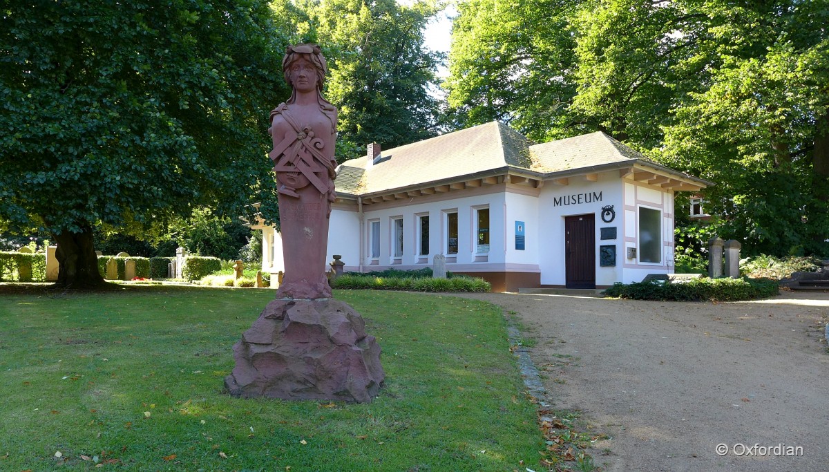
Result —
<instances>
[{"instance_id":1,"label":"large dark-green leafy tree with thick trunk, left of the statue","mask_svg":"<svg viewBox=\"0 0 829 472\"><path fill-rule=\"evenodd\" d=\"M274 208L268 110L287 41L261 0L3 0L0 231L51 232L97 285L93 228L159 234L198 205Z\"/></svg>"}]
</instances>

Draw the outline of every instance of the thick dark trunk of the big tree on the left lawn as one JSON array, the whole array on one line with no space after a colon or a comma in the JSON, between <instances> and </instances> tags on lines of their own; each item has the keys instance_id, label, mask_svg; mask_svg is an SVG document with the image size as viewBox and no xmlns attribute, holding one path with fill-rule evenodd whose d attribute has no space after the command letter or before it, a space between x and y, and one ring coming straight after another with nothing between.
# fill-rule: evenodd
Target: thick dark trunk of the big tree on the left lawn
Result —
<instances>
[{"instance_id":1,"label":"thick dark trunk of the big tree on the left lawn","mask_svg":"<svg viewBox=\"0 0 829 472\"><path fill-rule=\"evenodd\" d=\"M92 228L84 227L80 233L64 231L53 234L57 243L55 257L58 261L58 287L87 289L104 285L104 277L98 270Z\"/></svg>"}]
</instances>

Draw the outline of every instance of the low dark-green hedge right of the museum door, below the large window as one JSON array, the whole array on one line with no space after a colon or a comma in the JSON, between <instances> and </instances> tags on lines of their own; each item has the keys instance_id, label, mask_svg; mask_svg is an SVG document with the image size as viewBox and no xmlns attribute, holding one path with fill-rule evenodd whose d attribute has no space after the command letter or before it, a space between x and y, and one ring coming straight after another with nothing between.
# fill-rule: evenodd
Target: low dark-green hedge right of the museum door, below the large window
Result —
<instances>
[{"instance_id":1,"label":"low dark-green hedge right of the museum door, below the large window","mask_svg":"<svg viewBox=\"0 0 829 472\"><path fill-rule=\"evenodd\" d=\"M740 301L764 299L779 294L778 283L770 279L691 279L682 283L635 282L614 284L604 296L621 299L660 301Z\"/></svg>"}]
</instances>

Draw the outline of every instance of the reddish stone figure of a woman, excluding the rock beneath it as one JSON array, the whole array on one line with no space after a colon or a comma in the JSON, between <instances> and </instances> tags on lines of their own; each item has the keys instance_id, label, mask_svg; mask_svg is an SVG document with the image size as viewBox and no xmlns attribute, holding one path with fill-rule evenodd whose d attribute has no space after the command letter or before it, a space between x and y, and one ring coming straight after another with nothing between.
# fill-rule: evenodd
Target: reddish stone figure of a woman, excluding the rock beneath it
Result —
<instances>
[{"instance_id":1,"label":"reddish stone figure of a woman, excluding the rock beneath it","mask_svg":"<svg viewBox=\"0 0 829 472\"><path fill-rule=\"evenodd\" d=\"M328 217L334 201L337 109L322 98L327 73L319 46L288 46L282 61L293 92L270 112L285 275L278 298L330 298L325 275Z\"/></svg>"}]
</instances>

